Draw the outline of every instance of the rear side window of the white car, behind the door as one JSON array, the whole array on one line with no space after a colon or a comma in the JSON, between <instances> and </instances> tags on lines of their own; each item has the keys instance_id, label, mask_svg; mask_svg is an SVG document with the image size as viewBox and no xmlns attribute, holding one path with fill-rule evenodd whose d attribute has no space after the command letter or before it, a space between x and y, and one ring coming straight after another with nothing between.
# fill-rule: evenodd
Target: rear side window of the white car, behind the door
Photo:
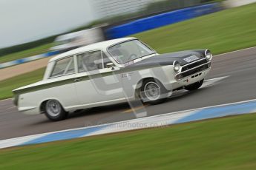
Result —
<instances>
[{"instance_id":1,"label":"rear side window of the white car, behind the door","mask_svg":"<svg viewBox=\"0 0 256 170\"><path fill-rule=\"evenodd\" d=\"M61 75L68 75L75 72L73 57L68 57L56 61L56 64L53 68L53 72L51 73L50 77L57 77Z\"/></svg>"}]
</instances>

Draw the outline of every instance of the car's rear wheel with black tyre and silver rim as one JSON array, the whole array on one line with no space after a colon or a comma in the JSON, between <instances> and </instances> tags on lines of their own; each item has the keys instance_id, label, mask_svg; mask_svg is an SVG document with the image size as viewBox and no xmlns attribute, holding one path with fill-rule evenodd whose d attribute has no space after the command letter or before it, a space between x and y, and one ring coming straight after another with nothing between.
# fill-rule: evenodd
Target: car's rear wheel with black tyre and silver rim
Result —
<instances>
[{"instance_id":1,"label":"car's rear wheel with black tyre and silver rim","mask_svg":"<svg viewBox=\"0 0 256 170\"><path fill-rule=\"evenodd\" d=\"M45 103L45 115L53 121L64 120L68 112L65 112L59 101L49 100Z\"/></svg>"}]
</instances>

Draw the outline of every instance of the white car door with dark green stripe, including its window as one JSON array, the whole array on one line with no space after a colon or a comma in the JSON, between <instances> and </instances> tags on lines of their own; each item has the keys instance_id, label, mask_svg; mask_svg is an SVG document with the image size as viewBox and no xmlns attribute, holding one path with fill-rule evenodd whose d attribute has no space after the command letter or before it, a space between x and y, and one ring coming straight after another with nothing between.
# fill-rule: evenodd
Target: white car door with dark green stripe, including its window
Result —
<instances>
[{"instance_id":1,"label":"white car door with dark green stripe, including its window","mask_svg":"<svg viewBox=\"0 0 256 170\"><path fill-rule=\"evenodd\" d=\"M76 92L82 105L101 104L124 98L119 68L108 68L109 58L99 50L76 55Z\"/></svg>"}]
</instances>

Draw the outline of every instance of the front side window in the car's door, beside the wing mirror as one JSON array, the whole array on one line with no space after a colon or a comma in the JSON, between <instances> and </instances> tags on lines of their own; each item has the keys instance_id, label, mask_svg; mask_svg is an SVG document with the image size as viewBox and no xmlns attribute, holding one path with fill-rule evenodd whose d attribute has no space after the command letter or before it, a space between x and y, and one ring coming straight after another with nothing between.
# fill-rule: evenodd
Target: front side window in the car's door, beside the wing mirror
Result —
<instances>
[{"instance_id":1,"label":"front side window in the car's door, beside the wing mirror","mask_svg":"<svg viewBox=\"0 0 256 170\"><path fill-rule=\"evenodd\" d=\"M86 52L77 55L78 71L90 72L97 69L104 69L111 61L101 51Z\"/></svg>"}]
</instances>

